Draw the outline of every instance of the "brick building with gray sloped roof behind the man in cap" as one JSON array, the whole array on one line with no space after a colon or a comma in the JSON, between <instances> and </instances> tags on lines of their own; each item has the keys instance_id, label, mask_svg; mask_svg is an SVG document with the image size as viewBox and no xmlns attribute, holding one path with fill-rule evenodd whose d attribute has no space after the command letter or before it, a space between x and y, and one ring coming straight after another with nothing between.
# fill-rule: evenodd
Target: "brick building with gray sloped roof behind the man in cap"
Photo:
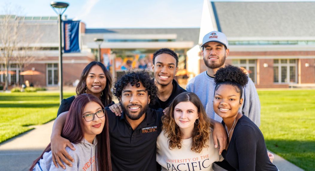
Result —
<instances>
[{"instance_id":1,"label":"brick building with gray sloped roof behind the man in cap","mask_svg":"<svg viewBox=\"0 0 315 171\"><path fill-rule=\"evenodd\" d=\"M245 68L257 88L315 87L314 8L315 2L205 0L199 44L210 31L225 33L226 63ZM198 46L187 54L191 76L206 70Z\"/></svg>"}]
</instances>

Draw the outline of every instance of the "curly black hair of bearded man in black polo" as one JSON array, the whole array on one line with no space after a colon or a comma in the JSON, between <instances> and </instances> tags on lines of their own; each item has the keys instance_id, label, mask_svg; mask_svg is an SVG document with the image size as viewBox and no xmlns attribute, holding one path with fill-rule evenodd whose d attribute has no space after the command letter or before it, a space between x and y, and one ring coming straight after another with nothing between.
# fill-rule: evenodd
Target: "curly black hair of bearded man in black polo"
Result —
<instances>
[{"instance_id":1,"label":"curly black hair of bearded man in black polo","mask_svg":"<svg viewBox=\"0 0 315 171\"><path fill-rule=\"evenodd\" d=\"M122 95L121 93L123 91L123 88L128 84L139 87L140 83L142 83L142 85L146 88L146 91L148 91L148 95L150 96L150 103L154 103L155 98L157 97L157 86L155 85L152 76L145 70L129 70L127 71L127 74L122 75L114 85L114 95L121 103L120 97Z\"/></svg>"}]
</instances>

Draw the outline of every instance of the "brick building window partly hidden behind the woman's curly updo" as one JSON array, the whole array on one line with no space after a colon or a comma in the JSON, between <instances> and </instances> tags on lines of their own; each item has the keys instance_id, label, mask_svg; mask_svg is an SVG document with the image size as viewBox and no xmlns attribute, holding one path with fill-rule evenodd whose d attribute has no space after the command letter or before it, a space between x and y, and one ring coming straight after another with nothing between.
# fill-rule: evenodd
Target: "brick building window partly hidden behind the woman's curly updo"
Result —
<instances>
[{"instance_id":1,"label":"brick building window partly hidden behind the woman's curly updo","mask_svg":"<svg viewBox=\"0 0 315 171\"><path fill-rule=\"evenodd\" d=\"M245 68L249 78L256 83L256 59L233 59L234 66Z\"/></svg>"}]
</instances>

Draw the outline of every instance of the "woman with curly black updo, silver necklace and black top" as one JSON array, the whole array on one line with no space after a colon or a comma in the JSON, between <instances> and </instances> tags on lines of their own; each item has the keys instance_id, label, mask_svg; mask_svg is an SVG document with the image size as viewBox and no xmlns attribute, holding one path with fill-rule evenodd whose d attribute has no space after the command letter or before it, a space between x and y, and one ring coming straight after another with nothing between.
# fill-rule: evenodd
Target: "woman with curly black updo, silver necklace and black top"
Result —
<instances>
[{"instance_id":1,"label":"woman with curly black updo, silver necklace and black top","mask_svg":"<svg viewBox=\"0 0 315 171\"><path fill-rule=\"evenodd\" d=\"M247 116L238 111L243 103L243 87L248 76L238 67L227 65L215 74L213 108L222 117L228 145L222 156L237 170L275 170L270 162L264 137Z\"/></svg>"}]
</instances>

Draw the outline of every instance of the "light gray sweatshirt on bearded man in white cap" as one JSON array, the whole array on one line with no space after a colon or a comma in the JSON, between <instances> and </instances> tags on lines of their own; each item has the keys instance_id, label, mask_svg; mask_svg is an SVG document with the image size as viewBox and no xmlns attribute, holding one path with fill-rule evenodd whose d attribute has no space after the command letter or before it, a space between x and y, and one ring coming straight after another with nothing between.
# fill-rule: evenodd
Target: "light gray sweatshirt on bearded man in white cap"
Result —
<instances>
[{"instance_id":1,"label":"light gray sweatshirt on bearded man in white cap","mask_svg":"<svg viewBox=\"0 0 315 171\"><path fill-rule=\"evenodd\" d=\"M222 118L213 110L213 98L214 98L214 79L209 77L204 71L190 80L187 84L187 91L194 92L200 98L203 107L206 110L207 115L216 121L221 122ZM252 120L258 127L260 125L260 101L255 88L255 85L251 79L248 79L248 83L243 88L243 104L239 109L250 120Z\"/></svg>"}]
</instances>

